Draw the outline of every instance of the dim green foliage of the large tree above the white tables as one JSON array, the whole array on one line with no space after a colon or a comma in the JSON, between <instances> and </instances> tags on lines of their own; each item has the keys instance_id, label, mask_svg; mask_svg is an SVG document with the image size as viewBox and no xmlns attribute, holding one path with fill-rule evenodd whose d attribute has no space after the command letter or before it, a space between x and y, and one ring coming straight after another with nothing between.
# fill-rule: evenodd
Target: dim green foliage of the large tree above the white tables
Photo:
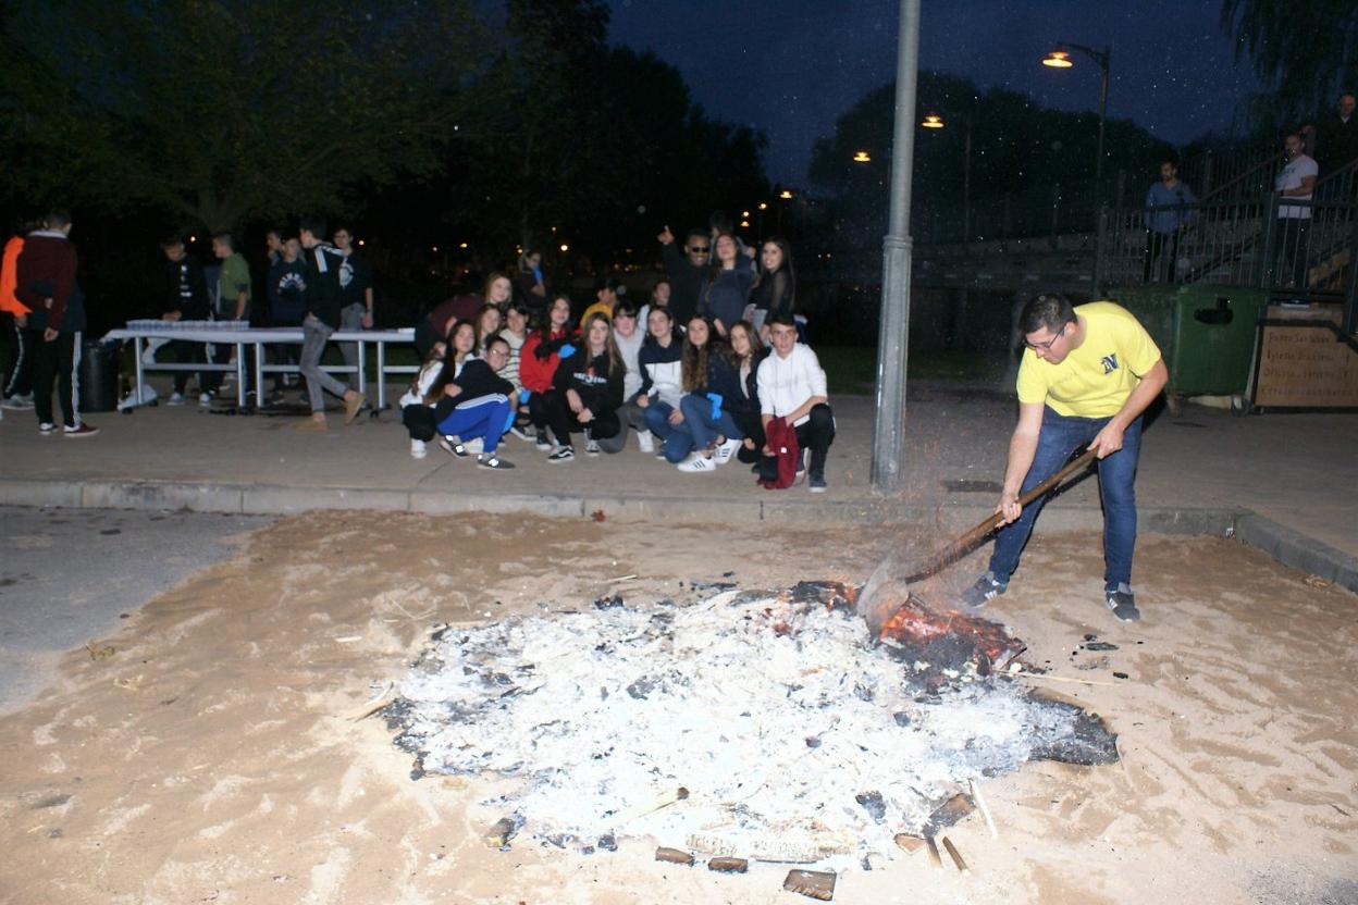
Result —
<instances>
[{"instance_id":1,"label":"dim green foliage of the large tree above the white tables","mask_svg":"<svg viewBox=\"0 0 1358 905\"><path fill-rule=\"evenodd\" d=\"M478 22L470 0L16 0L7 189L209 229L341 210L439 167Z\"/></svg>"}]
</instances>

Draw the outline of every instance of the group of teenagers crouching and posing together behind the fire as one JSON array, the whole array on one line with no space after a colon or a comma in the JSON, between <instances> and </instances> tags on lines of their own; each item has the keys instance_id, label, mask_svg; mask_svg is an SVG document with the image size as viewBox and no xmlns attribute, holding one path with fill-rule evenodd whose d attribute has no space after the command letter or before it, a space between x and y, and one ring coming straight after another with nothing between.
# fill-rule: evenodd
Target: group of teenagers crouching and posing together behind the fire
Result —
<instances>
[{"instance_id":1,"label":"group of teenagers crouching and posing together behind the fire","mask_svg":"<svg viewBox=\"0 0 1358 905\"><path fill-rule=\"evenodd\" d=\"M494 273L474 309L467 299L435 308L417 327L424 364L401 398L410 455L436 441L482 468L513 468L501 456L512 434L564 464L621 453L634 431L642 453L680 472L736 460L766 487L824 491L834 415L826 373L799 342L790 250L766 242L756 269L729 233L694 232L690 248L699 236L717 263L694 299L676 297L674 269L641 305L610 278L577 320L568 294L547 293L539 308Z\"/></svg>"}]
</instances>

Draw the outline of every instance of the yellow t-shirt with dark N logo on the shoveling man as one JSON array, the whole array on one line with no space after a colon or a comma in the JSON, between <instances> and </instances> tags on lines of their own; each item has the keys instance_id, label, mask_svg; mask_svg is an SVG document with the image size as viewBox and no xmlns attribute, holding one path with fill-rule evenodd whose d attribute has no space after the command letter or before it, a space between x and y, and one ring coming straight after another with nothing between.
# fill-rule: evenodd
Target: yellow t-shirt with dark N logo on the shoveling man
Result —
<instances>
[{"instance_id":1,"label":"yellow t-shirt with dark N logo on the shoveling man","mask_svg":"<svg viewBox=\"0 0 1358 905\"><path fill-rule=\"evenodd\" d=\"M1160 349L1122 305L1090 301L1077 305L1076 315L1085 323L1085 341L1059 365L1038 358L1032 349L1024 350L1019 402L1046 403L1076 418L1109 418L1160 361Z\"/></svg>"}]
</instances>

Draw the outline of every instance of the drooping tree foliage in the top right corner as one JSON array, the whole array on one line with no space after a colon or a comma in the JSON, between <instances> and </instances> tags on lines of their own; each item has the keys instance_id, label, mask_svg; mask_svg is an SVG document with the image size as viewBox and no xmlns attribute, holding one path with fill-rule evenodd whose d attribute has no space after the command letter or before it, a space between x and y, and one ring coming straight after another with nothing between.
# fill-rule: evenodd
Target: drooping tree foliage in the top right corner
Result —
<instances>
[{"instance_id":1,"label":"drooping tree foliage in the top right corner","mask_svg":"<svg viewBox=\"0 0 1358 905\"><path fill-rule=\"evenodd\" d=\"M1221 24L1266 85L1245 110L1256 128L1293 128L1358 91L1353 0L1222 0Z\"/></svg>"}]
</instances>

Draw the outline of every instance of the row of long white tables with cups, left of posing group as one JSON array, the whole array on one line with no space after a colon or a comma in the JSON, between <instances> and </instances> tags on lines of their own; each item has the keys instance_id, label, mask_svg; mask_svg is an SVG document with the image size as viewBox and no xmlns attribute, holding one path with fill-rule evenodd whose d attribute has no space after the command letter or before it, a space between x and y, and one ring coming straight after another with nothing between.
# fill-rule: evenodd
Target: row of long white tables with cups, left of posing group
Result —
<instances>
[{"instance_id":1,"label":"row of long white tables with cups, left of posing group","mask_svg":"<svg viewBox=\"0 0 1358 905\"><path fill-rule=\"evenodd\" d=\"M130 339L136 350L136 368L137 368L137 398L140 399L141 388L145 385L145 372L148 370L221 370L221 372L235 372L236 373L236 403L239 406L246 404L246 355L244 350L247 346L254 346L254 379L255 387L263 387L263 376L266 373L300 373L296 365L270 365L265 364L263 347L268 345L277 343L297 343L301 345L301 327L259 327L259 328L244 328L244 330L223 330L213 327L194 327L193 324L175 324L172 322L166 322L162 326L148 326L145 322L140 322L136 327L128 327L124 330L110 330L103 336L103 342L115 342L120 339ZM179 364L179 362L160 362L151 361L145 362L141 360L141 353L145 349L145 341L148 339L177 339L185 342L202 342L202 343L216 343L221 346L235 346L236 347L236 364L223 365L213 362L202 364ZM357 366L350 365L327 365L325 370L330 373L345 373L352 374L357 372L359 377L359 392L367 392L367 373L365 364L368 355L368 346L376 346L378 355L378 408L387 407L387 374L413 374L420 370L418 365L388 365L387 364L387 346L391 343L413 345L416 341L416 331L413 328L406 330L357 330L357 331L337 331L330 335L330 342L353 342L359 345L359 364ZM262 407L266 404L268 396L262 392L255 393L258 404Z\"/></svg>"}]
</instances>

